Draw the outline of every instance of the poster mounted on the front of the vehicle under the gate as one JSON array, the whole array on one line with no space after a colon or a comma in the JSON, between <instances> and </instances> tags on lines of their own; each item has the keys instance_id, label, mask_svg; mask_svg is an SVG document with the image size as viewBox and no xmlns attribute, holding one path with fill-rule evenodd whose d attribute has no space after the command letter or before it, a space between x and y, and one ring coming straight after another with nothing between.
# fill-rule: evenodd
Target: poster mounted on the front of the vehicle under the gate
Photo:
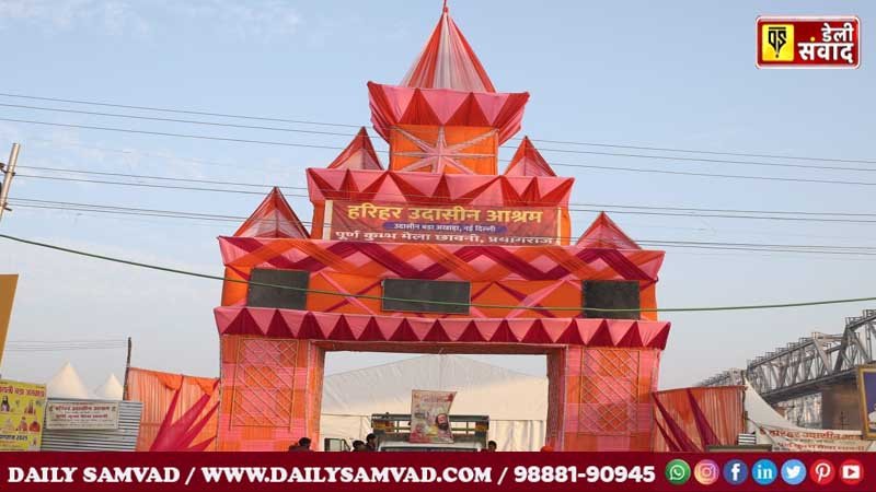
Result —
<instances>
[{"instance_id":1,"label":"poster mounted on the front of the vehicle under the gate","mask_svg":"<svg viewBox=\"0 0 876 492\"><path fill-rule=\"evenodd\" d=\"M411 393L411 438L412 443L451 444L453 431L450 429L450 406L456 391L426 391L414 389Z\"/></svg>"}]
</instances>

